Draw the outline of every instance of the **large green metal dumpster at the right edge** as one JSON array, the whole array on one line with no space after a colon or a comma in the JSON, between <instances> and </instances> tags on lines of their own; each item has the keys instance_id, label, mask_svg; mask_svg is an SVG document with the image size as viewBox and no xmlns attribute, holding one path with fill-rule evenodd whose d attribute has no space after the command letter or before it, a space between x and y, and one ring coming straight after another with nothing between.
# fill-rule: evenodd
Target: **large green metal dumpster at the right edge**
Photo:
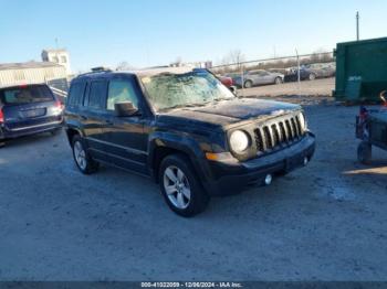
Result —
<instances>
[{"instance_id":1,"label":"large green metal dumpster at the right edge","mask_svg":"<svg viewBox=\"0 0 387 289\"><path fill-rule=\"evenodd\" d=\"M337 43L336 88L338 101L379 101L387 90L387 38Z\"/></svg>"}]
</instances>

